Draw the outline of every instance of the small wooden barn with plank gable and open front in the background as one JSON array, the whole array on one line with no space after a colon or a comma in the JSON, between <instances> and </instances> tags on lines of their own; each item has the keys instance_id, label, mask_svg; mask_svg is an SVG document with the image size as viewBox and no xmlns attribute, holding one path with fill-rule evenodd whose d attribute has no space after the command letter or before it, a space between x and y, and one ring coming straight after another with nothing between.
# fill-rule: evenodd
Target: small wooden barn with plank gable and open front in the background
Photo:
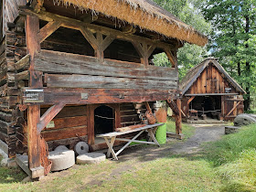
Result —
<instances>
[{"instance_id":1,"label":"small wooden barn with plank gable and open front in the background","mask_svg":"<svg viewBox=\"0 0 256 192\"><path fill-rule=\"evenodd\" d=\"M190 69L179 88L184 119L231 121L243 112L245 91L218 59L205 59Z\"/></svg>"}]
</instances>

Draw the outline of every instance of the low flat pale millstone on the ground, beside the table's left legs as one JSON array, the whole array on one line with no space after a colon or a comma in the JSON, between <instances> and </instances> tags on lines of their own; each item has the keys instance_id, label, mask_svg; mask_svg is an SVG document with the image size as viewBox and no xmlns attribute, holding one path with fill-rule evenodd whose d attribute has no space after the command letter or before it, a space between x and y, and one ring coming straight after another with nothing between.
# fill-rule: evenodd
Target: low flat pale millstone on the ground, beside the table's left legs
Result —
<instances>
[{"instance_id":1,"label":"low flat pale millstone on the ground, beside the table's left legs","mask_svg":"<svg viewBox=\"0 0 256 192\"><path fill-rule=\"evenodd\" d=\"M77 164L99 164L106 160L106 155L101 153L87 153L77 156Z\"/></svg>"}]
</instances>

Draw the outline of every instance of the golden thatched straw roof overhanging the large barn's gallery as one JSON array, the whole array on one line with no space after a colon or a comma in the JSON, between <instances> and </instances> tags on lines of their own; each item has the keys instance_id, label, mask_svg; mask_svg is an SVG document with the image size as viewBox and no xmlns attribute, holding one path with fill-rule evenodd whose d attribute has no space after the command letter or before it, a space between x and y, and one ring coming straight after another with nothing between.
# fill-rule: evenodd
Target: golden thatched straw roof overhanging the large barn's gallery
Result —
<instances>
[{"instance_id":1,"label":"golden thatched straw roof overhanging the large barn's gallery","mask_svg":"<svg viewBox=\"0 0 256 192\"><path fill-rule=\"evenodd\" d=\"M129 24L155 31L165 37L177 38L188 43L204 46L208 37L187 26L151 0L54 0L56 3L73 5L80 10L91 9L96 14L116 17Z\"/></svg>"}]
</instances>

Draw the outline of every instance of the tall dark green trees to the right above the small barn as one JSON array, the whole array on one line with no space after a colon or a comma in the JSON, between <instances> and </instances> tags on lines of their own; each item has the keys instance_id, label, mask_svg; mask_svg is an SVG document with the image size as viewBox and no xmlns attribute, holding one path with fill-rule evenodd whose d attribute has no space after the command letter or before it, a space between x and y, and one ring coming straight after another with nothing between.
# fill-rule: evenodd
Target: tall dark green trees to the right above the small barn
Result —
<instances>
[{"instance_id":1,"label":"tall dark green trees to the right above the small barn","mask_svg":"<svg viewBox=\"0 0 256 192\"><path fill-rule=\"evenodd\" d=\"M251 91L255 92L255 0L207 0L202 6L214 30L209 49L213 56L247 91L245 110L250 110Z\"/></svg>"}]
</instances>

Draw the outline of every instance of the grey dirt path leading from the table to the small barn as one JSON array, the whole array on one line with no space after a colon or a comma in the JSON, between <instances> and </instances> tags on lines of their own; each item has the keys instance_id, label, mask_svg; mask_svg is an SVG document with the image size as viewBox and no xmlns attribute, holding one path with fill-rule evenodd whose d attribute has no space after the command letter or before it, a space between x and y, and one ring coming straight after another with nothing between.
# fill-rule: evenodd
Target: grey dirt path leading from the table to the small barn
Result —
<instances>
[{"instance_id":1,"label":"grey dirt path leading from the table to the small barn","mask_svg":"<svg viewBox=\"0 0 256 192\"><path fill-rule=\"evenodd\" d=\"M165 144L161 147L132 147L123 151L119 156L120 161L126 161L132 157L140 158L142 161L150 161L155 158L165 157L171 154L192 154L200 150L200 145L206 142L216 141L225 132L224 125L196 125L195 134L188 138L186 142L176 144Z\"/></svg>"}]
</instances>

